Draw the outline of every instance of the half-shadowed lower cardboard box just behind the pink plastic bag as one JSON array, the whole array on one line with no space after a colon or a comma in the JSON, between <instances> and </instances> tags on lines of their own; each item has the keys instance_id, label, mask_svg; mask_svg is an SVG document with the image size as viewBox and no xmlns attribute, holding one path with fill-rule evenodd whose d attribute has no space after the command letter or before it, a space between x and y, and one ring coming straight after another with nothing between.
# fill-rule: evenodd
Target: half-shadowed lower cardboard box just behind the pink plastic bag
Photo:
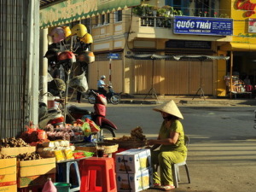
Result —
<instances>
[{"instance_id":1,"label":"half-shadowed lower cardboard box just behind the pink plastic bag","mask_svg":"<svg viewBox=\"0 0 256 192\"><path fill-rule=\"evenodd\" d=\"M18 177L18 179L17 179L18 188L26 188L28 186L44 185L48 181L49 177L51 178L51 181L54 183L55 182L55 173L29 176L29 177ZM0 190L0 192L1 192L1 190Z\"/></svg>"}]
</instances>

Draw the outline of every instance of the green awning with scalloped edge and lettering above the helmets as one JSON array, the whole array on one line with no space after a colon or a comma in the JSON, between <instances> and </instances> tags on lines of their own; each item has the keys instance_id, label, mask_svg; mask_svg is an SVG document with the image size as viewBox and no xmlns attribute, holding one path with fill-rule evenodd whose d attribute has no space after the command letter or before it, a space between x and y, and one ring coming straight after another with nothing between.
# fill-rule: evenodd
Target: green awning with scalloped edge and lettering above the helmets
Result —
<instances>
[{"instance_id":1,"label":"green awning with scalloped edge and lettering above the helmets","mask_svg":"<svg viewBox=\"0 0 256 192\"><path fill-rule=\"evenodd\" d=\"M40 28L61 26L140 3L141 0L67 0L40 10Z\"/></svg>"}]
</instances>

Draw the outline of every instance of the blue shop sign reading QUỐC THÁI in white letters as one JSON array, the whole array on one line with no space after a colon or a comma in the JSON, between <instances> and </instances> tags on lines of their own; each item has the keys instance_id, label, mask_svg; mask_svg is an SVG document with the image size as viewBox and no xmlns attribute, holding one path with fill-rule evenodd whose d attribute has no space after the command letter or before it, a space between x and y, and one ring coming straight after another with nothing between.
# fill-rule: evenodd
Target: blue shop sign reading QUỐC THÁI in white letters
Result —
<instances>
[{"instance_id":1,"label":"blue shop sign reading QU\u1ed0C TH\u00c1I in white letters","mask_svg":"<svg viewBox=\"0 0 256 192\"><path fill-rule=\"evenodd\" d=\"M175 16L173 33L229 36L233 34L233 20L214 17Z\"/></svg>"}]
</instances>

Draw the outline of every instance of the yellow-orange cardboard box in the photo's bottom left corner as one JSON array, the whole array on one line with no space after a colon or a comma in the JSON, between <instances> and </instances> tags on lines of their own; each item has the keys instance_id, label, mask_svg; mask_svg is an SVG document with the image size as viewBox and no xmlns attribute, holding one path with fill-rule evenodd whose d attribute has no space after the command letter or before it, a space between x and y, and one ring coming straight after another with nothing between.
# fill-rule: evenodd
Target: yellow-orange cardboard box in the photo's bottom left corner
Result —
<instances>
[{"instance_id":1,"label":"yellow-orange cardboard box in the photo's bottom left corner","mask_svg":"<svg viewBox=\"0 0 256 192\"><path fill-rule=\"evenodd\" d=\"M16 158L0 160L0 187L15 185L16 173ZM0 191L2 191L1 188Z\"/></svg>"}]
</instances>

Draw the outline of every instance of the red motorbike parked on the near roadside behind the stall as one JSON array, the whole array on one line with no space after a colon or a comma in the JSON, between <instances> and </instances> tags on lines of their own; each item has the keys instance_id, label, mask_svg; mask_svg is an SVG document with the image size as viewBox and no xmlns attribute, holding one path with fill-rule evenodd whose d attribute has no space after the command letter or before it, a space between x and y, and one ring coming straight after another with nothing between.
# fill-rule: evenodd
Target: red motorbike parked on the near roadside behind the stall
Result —
<instances>
[{"instance_id":1,"label":"red motorbike parked on the near roadside behind the stall","mask_svg":"<svg viewBox=\"0 0 256 192\"><path fill-rule=\"evenodd\" d=\"M73 123L77 119L89 118L101 128L97 134L98 141L103 141L105 137L116 137L115 131L118 129L109 119L106 118L106 97L92 90L96 98L94 103L94 112L79 108L75 105L67 105L66 123ZM60 102L60 100L58 100Z\"/></svg>"}]
</instances>

